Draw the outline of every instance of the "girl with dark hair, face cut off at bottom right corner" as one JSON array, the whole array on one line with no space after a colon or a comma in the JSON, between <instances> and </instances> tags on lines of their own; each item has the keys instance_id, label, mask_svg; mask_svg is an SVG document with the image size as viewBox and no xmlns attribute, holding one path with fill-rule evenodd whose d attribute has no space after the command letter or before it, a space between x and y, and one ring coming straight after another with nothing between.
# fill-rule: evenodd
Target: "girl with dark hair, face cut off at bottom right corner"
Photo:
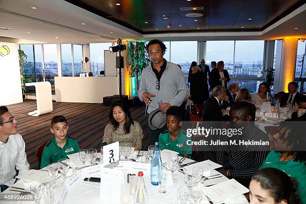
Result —
<instances>
[{"instance_id":1,"label":"girl with dark hair, face cut off at bottom right corner","mask_svg":"<svg viewBox=\"0 0 306 204\"><path fill-rule=\"evenodd\" d=\"M265 168L252 176L249 183L249 203L302 204L295 180L276 168Z\"/></svg>"}]
</instances>

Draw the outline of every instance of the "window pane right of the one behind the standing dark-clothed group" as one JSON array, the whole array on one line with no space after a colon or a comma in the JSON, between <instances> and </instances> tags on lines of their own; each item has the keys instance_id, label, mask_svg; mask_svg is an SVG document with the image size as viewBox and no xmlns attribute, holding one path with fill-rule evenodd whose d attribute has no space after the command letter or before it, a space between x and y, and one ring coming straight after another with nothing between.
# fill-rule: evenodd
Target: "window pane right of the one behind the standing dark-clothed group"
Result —
<instances>
[{"instance_id":1,"label":"window pane right of the one behind the standing dark-clothed group","mask_svg":"<svg viewBox=\"0 0 306 204\"><path fill-rule=\"evenodd\" d=\"M261 77L264 40L236 41L234 77Z\"/></svg>"}]
</instances>

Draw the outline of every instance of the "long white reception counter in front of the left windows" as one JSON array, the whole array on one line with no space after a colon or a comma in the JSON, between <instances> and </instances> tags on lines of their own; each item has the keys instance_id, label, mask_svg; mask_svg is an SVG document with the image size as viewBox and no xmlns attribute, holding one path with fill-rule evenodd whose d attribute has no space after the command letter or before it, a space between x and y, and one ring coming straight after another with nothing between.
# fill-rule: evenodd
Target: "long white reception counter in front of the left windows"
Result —
<instances>
[{"instance_id":1,"label":"long white reception counter in front of the left windows","mask_svg":"<svg viewBox=\"0 0 306 204\"><path fill-rule=\"evenodd\" d=\"M119 93L116 76L55 76L55 98L58 102L101 103L104 96Z\"/></svg>"}]
</instances>

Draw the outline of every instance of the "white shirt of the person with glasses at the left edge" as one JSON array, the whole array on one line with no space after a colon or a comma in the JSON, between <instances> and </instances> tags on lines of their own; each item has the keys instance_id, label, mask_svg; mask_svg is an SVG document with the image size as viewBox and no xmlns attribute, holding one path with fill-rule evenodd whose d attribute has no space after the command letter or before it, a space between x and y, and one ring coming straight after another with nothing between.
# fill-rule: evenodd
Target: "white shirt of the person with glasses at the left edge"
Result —
<instances>
[{"instance_id":1,"label":"white shirt of the person with glasses at the left edge","mask_svg":"<svg viewBox=\"0 0 306 204\"><path fill-rule=\"evenodd\" d=\"M9 135L6 143L0 141L0 184L11 186L14 183L15 167L19 174L29 170L24 147L24 140L18 133Z\"/></svg>"}]
</instances>

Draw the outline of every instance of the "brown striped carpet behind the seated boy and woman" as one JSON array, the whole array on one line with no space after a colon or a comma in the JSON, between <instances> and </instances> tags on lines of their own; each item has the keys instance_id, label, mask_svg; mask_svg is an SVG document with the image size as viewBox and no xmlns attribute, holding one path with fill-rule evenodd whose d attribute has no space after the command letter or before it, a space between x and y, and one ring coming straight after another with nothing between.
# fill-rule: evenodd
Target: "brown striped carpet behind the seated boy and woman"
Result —
<instances>
[{"instance_id":1,"label":"brown striped carpet behind the seated boy and woman","mask_svg":"<svg viewBox=\"0 0 306 204\"><path fill-rule=\"evenodd\" d=\"M25 152L30 168L38 169L38 159L35 156L37 147L51 139L50 120L54 115L64 115L68 121L67 135L75 138L81 148L99 149L104 127L109 122L110 106L99 103L53 102L53 111L40 116L29 116L28 112L36 109L36 100L24 100L22 103L8 105L9 111L17 120L17 131L25 142ZM129 110L134 120L137 120L147 137L145 106L130 105Z\"/></svg>"}]
</instances>

